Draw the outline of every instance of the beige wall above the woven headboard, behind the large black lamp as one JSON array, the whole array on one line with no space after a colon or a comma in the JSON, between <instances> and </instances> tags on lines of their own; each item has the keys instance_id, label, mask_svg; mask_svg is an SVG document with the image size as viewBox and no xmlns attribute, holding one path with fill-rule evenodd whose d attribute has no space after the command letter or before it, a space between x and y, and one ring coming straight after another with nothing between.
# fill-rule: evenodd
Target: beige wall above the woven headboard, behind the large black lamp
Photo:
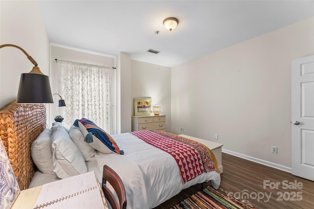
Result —
<instances>
[{"instance_id":1,"label":"beige wall above the woven headboard, behind the large black lamp","mask_svg":"<svg viewBox=\"0 0 314 209\"><path fill-rule=\"evenodd\" d=\"M23 48L50 75L50 43L37 1L0 1L0 44ZM21 73L32 67L19 49L0 49L0 107L16 100Z\"/></svg>"}]
</instances>

